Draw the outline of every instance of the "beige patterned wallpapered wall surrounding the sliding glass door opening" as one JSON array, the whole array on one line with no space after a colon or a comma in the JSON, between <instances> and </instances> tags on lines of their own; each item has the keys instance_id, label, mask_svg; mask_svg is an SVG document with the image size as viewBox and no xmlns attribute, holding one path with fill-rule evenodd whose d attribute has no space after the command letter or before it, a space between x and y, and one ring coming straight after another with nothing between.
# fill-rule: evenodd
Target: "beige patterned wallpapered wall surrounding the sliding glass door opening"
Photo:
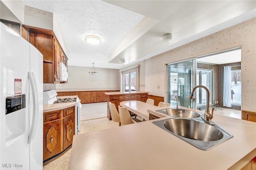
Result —
<instances>
[{"instance_id":1,"label":"beige patterned wallpapered wall surrounding the sliding glass door opening","mask_svg":"<svg viewBox=\"0 0 256 170\"><path fill-rule=\"evenodd\" d=\"M145 61L145 90L166 97L166 64L242 47L242 110L256 111L256 18ZM160 89L157 86L160 86Z\"/></svg>"}]
</instances>

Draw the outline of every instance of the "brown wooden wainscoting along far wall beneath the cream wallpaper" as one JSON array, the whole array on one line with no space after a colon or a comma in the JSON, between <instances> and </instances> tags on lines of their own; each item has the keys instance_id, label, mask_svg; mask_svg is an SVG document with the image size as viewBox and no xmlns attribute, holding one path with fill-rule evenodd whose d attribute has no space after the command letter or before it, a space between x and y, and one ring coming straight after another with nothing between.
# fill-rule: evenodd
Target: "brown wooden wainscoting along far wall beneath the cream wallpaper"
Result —
<instances>
[{"instance_id":1,"label":"brown wooden wainscoting along far wall beneath the cream wallpaper","mask_svg":"<svg viewBox=\"0 0 256 170\"><path fill-rule=\"evenodd\" d=\"M119 92L120 90L102 90L102 91L64 91L57 92L59 96L74 96L77 95L82 104L86 103L100 103L107 101L105 92Z\"/></svg>"}]
</instances>

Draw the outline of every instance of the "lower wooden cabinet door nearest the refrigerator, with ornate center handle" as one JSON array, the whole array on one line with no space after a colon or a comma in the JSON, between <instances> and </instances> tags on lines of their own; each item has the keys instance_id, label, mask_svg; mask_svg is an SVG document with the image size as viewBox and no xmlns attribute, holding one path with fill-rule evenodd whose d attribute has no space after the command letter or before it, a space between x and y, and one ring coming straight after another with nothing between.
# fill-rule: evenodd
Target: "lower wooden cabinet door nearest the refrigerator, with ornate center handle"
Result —
<instances>
[{"instance_id":1,"label":"lower wooden cabinet door nearest the refrigerator, with ornate center handle","mask_svg":"<svg viewBox=\"0 0 256 170\"><path fill-rule=\"evenodd\" d=\"M61 146L61 119L44 123L43 128L43 160L54 156L62 151Z\"/></svg>"}]
</instances>

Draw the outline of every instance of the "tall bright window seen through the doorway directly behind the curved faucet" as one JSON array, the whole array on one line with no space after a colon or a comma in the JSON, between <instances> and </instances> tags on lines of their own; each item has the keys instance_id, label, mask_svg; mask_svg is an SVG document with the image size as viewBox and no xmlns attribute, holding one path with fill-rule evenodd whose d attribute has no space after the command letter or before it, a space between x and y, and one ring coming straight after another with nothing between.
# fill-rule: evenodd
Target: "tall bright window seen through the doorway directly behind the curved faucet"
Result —
<instances>
[{"instance_id":1,"label":"tall bright window seen through the doorway directly behind the curved faucet","mask_svg":"<svg viewBox=\"0 0 256 170\"><path fill-rule=\"evenodd\" d=\"M212 103L212 70L197 69L196 70L196 85L203 85L210 91L210 103ZM196 104L206 103L206 91L198 88L196 93Z\"/></svg>"}]
</instances>

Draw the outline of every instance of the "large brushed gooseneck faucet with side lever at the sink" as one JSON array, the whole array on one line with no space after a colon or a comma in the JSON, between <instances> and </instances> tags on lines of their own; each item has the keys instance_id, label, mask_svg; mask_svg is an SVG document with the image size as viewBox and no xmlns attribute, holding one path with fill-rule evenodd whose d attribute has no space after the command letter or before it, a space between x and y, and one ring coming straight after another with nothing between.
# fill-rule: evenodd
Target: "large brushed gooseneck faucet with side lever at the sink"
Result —
<instances>
[{"instance_id":1,"label":"large brushed gooseneck faucet with side lever at the sink","mask_svg":"<svg viewBox=\"0 0 256 170\"><path fill-rule=\"evenodd\" d=\"M213 118L213 112L214 112L214 108L212 108L212 113L210 113L210 91L209 91L209 89L207 88L207 87L205 87L205 86L203 86L203 85L197 85L197 86L195 86L193 89L192 89L192 92L190 93L190 95L189 95L189 99L194 99L194 92L195 92L195 90L198 88L198 87L201 87L201 88L203 88L203 89L205 89L206 90L206 97L207 97L207 99L206 99L206 111L205 111L205 113L204 113L204 121L206 122L206 123L209 123L210 125L212 125L212 123L211 123L211 119Z\"/></svg>"}]
</instances>

